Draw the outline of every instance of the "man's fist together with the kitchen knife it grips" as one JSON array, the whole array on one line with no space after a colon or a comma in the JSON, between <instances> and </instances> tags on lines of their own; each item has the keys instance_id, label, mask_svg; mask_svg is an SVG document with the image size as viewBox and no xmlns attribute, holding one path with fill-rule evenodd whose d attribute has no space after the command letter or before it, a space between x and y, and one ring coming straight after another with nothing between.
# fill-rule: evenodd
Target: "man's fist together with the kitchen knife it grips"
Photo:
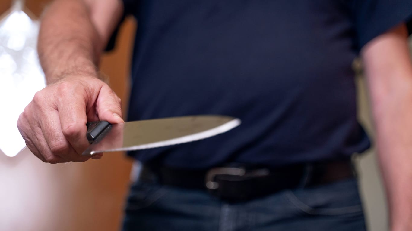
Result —
<instances>
[{"instance_id":1,"label":"man's fist together with the kitchen knife it grips","mask_svg":"<svg viewBox=\"0 0 412 231\"><path fill-rule=\"evenodd\" d=\"M196 141L240 124L239 119L228 116L124 122L121 113L119 98L103 81L85 76L66 77L37 92L17 126L34 155L43 162L61 163L97 159L101 155L95 154L102 152ZM87 123L98 120L102 121Z\"/></svg>"}]
</instances>

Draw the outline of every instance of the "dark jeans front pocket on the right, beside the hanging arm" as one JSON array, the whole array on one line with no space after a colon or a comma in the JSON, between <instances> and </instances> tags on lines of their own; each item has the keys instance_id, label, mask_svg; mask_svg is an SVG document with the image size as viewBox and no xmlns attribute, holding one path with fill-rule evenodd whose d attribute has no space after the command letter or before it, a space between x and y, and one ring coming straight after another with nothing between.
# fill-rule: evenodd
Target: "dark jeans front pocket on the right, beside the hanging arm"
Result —
<instances>
[{"instance_id":1,"label":"dark jeans front pocket on the right, beside the hanging arm","mask_svg":"<svg viewBox=\"0 0 412 231\"><path fill-rule=\"evenodd\" d=\"M355 179L313 188L287 190L286 199L307 215L362 215L363 208Z\"/></svg>"}]
</instances>

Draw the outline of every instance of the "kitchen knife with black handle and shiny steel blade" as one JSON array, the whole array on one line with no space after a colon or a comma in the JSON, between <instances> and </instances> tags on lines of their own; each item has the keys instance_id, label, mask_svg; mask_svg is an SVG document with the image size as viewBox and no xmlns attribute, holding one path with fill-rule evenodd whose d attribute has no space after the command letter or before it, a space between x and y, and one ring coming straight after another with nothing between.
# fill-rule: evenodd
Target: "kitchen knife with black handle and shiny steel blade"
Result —
<instances>
[{"instance_id":1,"label":"kitchen knife with black handle and shiny steel blade","mask_svg":"<svg viewBox=\"0 0 412 231\"><path fill-rule=\"evenodd\" d=\"M91 145L82 155L157 148L206 139L239 126L241 120L229 116L199 115L119 124L107 121L87 123Z\"/></svg>"}]
</instances>

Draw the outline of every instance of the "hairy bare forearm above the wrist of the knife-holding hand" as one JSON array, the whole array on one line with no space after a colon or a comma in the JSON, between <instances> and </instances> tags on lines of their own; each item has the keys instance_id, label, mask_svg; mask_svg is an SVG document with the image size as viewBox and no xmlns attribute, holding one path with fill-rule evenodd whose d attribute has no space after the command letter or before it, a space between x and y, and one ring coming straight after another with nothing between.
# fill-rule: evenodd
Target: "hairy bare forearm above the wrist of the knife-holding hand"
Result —
<instances>
[{"instance_id":1,"label":"hairy bare forearm above the wrist of the knife-holding hand","mask_svg":"<svg viewBox=\"0 0 412 231\"><path fill-rule=\"evenodd\" d=\"M108 11L108 7L115 9ZM49 6L42 16L38 41L47 83L71 74L96 76L99 56L114 28L108 20L119 18L117 8L119 1L101 0L56 0Z\"/></svg>"}]
</instances>

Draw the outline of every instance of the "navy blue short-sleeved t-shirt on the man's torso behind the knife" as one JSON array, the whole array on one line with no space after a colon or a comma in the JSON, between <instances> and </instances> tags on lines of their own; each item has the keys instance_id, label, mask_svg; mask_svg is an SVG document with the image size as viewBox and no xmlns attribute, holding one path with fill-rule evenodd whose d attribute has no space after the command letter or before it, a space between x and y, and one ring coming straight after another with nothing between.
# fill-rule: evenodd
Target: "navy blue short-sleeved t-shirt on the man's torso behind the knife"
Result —
<instances>
[{"instance_id":1,"label":"navy blue short-sleeved t-shirt on the man's torso behind the knife","mask_svg":"<svg viewBox=\"0 0 412 231\"><path fill-rule=\"evenodd\" d=\"M129 120L242 120L209 139L129 153L181 168L281 166L363 152L370 141L356 120L351 63L371 39L412 16L411 0L124 4L138 20Z\"/></svg>"}]
</instances>

